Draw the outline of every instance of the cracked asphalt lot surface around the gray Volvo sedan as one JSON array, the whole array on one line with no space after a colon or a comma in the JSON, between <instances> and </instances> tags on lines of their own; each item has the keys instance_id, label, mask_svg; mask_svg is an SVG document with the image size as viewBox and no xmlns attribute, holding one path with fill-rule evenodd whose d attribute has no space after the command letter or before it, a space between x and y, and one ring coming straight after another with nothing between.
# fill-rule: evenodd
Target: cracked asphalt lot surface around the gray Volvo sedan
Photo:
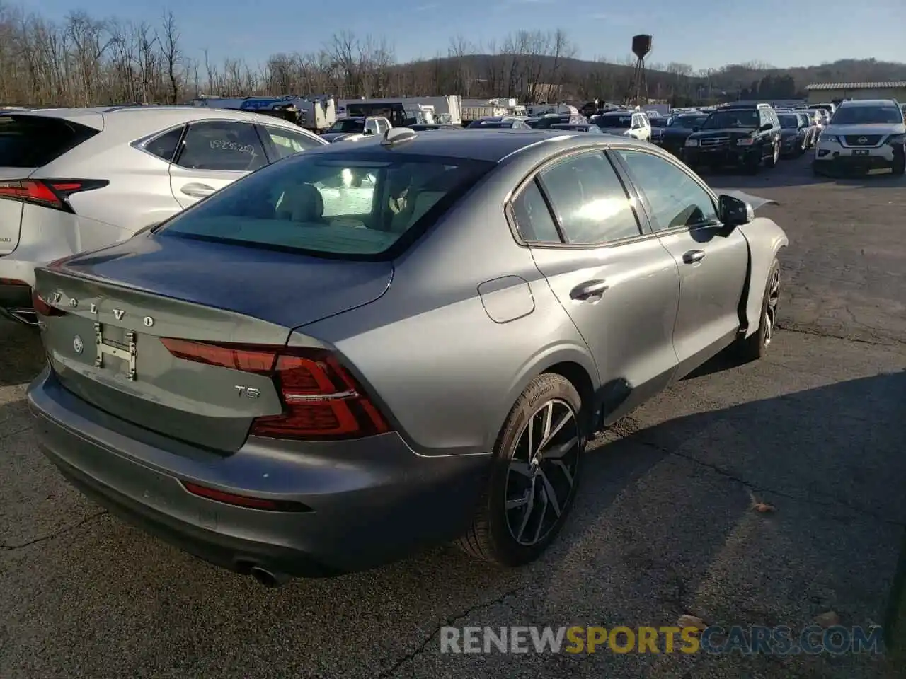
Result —
<instances>
[{"instance_id":1,"label":"cracked asphalt lot surface around the gray Volvo sedan","mask_svg":"<svg viewBox=\"0 0 906 679\"><path fill-rule=\"evenodd\" d=\"M906 528L906 182L815 182L805 159L709 178L780 202L786 330L600 436L572 521L527 569L444 548L269 590L209 567L44 461L23 401L41 351L0 322L0 676L895 676L872 655L439 653L444 625L885 623Z\"/></svg>"}]
</instances>

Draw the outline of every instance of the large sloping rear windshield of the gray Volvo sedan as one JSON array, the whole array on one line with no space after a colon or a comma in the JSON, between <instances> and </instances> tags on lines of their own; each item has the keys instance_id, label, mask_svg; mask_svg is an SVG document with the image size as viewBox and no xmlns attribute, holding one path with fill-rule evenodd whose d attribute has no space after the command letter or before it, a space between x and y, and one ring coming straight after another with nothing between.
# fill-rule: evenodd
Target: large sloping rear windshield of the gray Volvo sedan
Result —
<instances>
[{"instance_id":1,"label":"large sloping rear windshield of the gray Volvo sedan","mask_svg":"<svg viewBox=\"0 0 906 679\"><path fill-rule=\"evenodd\" d=\"M294 156L226 186L155 233L381 259L393 254L404 234L443 214L491 167L467 158L345 149Z\"/></svg>"}]
</instances>

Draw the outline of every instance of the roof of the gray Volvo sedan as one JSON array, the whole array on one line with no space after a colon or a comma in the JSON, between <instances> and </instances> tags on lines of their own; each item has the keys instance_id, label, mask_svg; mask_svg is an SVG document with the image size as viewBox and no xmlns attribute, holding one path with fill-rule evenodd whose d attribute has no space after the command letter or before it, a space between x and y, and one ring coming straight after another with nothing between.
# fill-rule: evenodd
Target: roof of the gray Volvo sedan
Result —
<instances>
[{"instance_id":1,"label":"roof of the gray Volvo sedan","mask_svg":"<svg viewBox=\"0 0 906 679\"><path fill-rule=\"evenodd\" d=\"M340 142L323 148L306 151L305 155L317 153L337 153L341 149L352 153L357 150L376 150L381 145L381 137L371 136L356 141ZM466 133L458 129L438 129L430 134L419 135L416 132L412 139L400 142L393 150L414 156L439 156L444 158L473 158L488 162L499 162L525 148L550 142L561 147L581 146L594 139L600 144L602 138L589 135L587 132L572 129L469 129ZM647 141L629 137L614 137L614 143L638 145L651 148Z\"/></svg>"}]
</instances>

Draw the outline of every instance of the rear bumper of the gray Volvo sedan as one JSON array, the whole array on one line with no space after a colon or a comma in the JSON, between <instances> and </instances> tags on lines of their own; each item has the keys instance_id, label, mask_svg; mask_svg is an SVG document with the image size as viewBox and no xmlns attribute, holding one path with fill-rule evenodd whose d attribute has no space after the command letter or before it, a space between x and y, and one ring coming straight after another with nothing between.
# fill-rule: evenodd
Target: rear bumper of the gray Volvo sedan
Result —
<instances>
[{"instance_id":1,"label":"rear bumper of the gray Volvo sedan","mask_svg":"<svg viewBox=\"0 0 906 679\"><path fill-rule=\"evenodd\" d=\"M422 457L392 433L345 444L271 447L231 455L164 445L68 392L49 368L28 389L44 454L82 493L162 540L238 572L335 575L400 559L467 530L489 454ZM177 452L171 452L178 450ZM302 505L250 509L189 493Z\"/></svg>"}]
</instances>

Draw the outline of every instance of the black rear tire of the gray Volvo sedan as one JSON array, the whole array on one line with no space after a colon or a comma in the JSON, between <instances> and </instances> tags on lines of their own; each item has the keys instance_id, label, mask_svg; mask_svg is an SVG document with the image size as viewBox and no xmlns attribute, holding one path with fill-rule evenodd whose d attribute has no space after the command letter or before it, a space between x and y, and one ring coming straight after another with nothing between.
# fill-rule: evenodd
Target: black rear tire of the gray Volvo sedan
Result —
<instances>
[{"instance_id":1,"label":"black rear tire of the gray Volvo sedan","mask_svg":"<svg viewBox=\"0 0 906 679\"><path fill-rule=\"evenodd\" d=\"M524 455L526 459L529 457L527 446L522 445L526 440L523 435L527 427L533 426L533 432L537 432L551 404L554 408L555 423L559 422L560 415L567 411L571 412L574 422L574 426L567 422L552 438L554 447L564 450L564 446L568 445L573 437L575 439L574 447L561 458L563 466L567 469L565 475L560 467L551 464L554 463L552 460L544 458L536 465L524 464L522 460ZM497 436L494 465L485 492L478 502L471 527L458 540L458 546L462 550L477 559L506 567L524 566L541 556L563 528L566 517L573 507L585 449L585 421L582 398L568 379L545 373L525 387L525 391L506 417L500 435ZM539 473L538 469L542 472ZM526 470L528 474L525 473ZM511 480L512 487L509 485ZM571 483L566 483L567 481ZM528 487L524 489L522 497L517 497L519 488L525 484ZM559 491L554 492L556 502L548 499L550 494L547 488ZM541 501L541 495L545 497L544 502ZM507 509L508 500L511 503L523 502L523 504ZM535 502L541 502L537 509ZM523 506L526 507L525 510L522 510ZM556 513L554 508L558 509L559 513ZM534 516L541 512L538 521L533 521L533 512ZM554 521L547 522L552 517ZM523 531L528 530L531 538L540 537L530 544L525 543L525 540L517 540L524 532L516 529L517 534L514 534L515 523L518 523ZM533 531L538 527L541 527L541 530L535 535Z\"/></svg>"}]
</instances>

